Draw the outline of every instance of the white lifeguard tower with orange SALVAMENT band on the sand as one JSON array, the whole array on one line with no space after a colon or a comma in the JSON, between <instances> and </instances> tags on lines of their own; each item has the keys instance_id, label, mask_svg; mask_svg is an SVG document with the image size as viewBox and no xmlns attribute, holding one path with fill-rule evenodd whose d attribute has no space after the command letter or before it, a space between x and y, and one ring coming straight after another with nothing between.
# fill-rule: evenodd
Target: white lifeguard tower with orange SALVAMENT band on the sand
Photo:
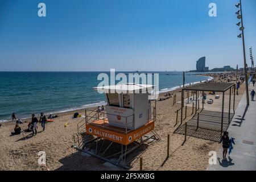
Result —
<instances>
[{"instance_id":1,"label":"white lifeguard tower with orange SALVAMENT band on the sand","mask_svg":"<svg viewBox=\"0 0 256 182\"><path fill-rule=\"evenodd\" d=\"M117 166L127 167L125 163L127 154L147 141L160 139L154 131L156 100L154 99L155 106L151 104L151 92L154 86L120 84L94 89L105 94L107 105L104 111L85 110L86 134L93 138L84 142L82 151ZM152 135L147 136L148 133ZM102 147L102 144L99 149L100 141L103 141L103 144L108 141L109 144L106 147ZM90 146L88 146L89 143ZM121 144L121 151L110 151L109 148L113 143ZM110 160L105 156L107 151L110 151L109 156L119 155L119 158Z\"/></svg>"}]
</instances>

